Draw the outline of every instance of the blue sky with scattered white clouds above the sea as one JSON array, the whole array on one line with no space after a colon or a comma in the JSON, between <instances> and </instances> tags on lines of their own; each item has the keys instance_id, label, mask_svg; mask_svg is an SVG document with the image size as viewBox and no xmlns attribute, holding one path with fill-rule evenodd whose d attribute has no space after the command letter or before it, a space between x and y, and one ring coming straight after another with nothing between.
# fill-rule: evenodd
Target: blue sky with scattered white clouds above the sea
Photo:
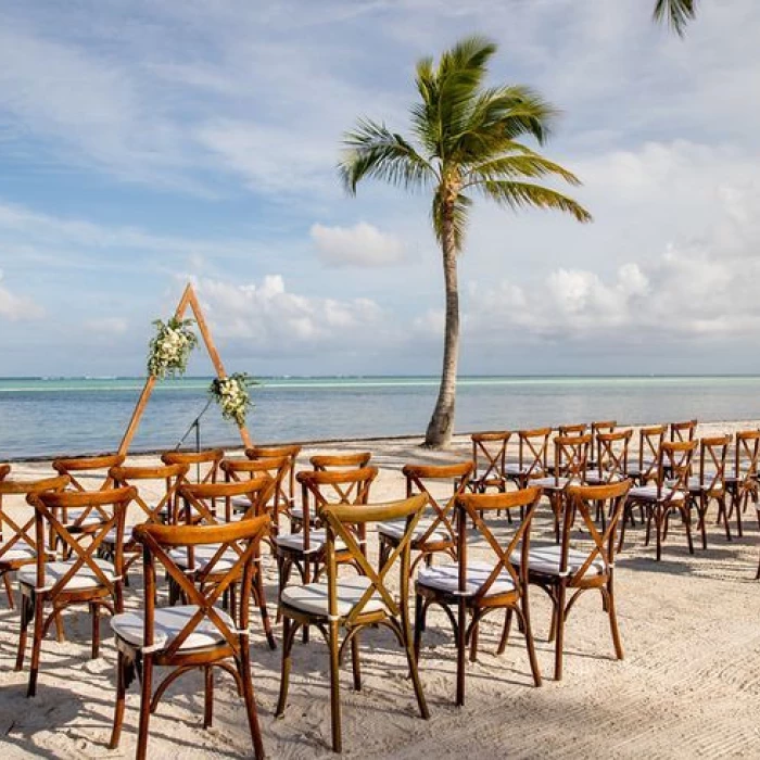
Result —
<instances>
[{"instance_id":1,"label":"blue sky with scattered white clouds above the sea","mask_svg":"<svg viewBox=\"0 0 760 760\"><path fill-rule=\"evenodd\" d=\"M335 165L469 34L594 223L476 205L460 372L760 372L760 3L651 5L0 0L0 376L144 373L188 281L228 371L436 373L430 199Z\"/></svg>"}]
</instances>

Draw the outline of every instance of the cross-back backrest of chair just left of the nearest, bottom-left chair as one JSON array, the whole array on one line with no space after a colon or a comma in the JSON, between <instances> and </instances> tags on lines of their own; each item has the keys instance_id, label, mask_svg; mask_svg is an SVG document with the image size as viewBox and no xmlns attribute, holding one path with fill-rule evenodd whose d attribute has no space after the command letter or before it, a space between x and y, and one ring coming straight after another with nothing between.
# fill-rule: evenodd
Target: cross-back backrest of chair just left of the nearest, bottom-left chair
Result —
<instances>
[{"instance_id":1,"label":"cross-back backrest of chair just left of the nearest, bottom-left chair","mask_svg":"<svg viewBox=\"0 0 760 760\"><path fill-rule=\"evenodd\" d=\"M26 497L35 508L35 544L37 547L37 591L46 592L54 597L65 590L66 584L80 570L91 572L100 585L115 593L121 586L124 561L124 519L129 503L136 496L134 487L107 489L103 491L33 491ZM103 516L103 520L93 525L87 533L73 534L58 512L66 509L92 507ZM109 535L115 533L115 550L113 553L113 575L104 570L96 558L98 552ZM66 572L58 581L48 584L46 565L48 562L47 541L50 535L51 545L61 542L64 554L72 561ZM81 539L81 541L80 541Z\"/></svg>"}]
</instances>

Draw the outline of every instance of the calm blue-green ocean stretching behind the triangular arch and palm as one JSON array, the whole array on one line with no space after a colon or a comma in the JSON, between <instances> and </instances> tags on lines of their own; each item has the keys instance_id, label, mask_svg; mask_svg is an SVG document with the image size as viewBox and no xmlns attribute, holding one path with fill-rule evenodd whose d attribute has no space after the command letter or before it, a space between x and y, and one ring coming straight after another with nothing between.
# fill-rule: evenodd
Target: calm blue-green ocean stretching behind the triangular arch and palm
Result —
<instances>
[{"instance_id":1,"label":"calm blue-green ocean stretching behind the triangular arch and palm","mask_svg":"<svg viewBox=\"0 0 760 760\"><path fill-rule=\"evenodd\" d=\"M134 453L174 448L206 406L211 378L156 384ZM432 377L262 378L252 390L256 442L421 435L438 392ZM143 378L0 378L0 461L118 447ZM620 425L760 419L760 377L463 377L456 431L594 419ZM212 404L201 445L237 445ZM187 439L194 445L194 431Z\"/></svg>"}]
</instances>

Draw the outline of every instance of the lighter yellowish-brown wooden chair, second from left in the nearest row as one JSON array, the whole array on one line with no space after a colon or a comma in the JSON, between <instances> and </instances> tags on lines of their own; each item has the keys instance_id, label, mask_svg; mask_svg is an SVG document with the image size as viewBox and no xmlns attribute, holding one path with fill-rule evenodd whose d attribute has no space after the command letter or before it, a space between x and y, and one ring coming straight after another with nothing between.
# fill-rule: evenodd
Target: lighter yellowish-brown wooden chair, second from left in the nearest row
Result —
<instances>
[{"instance_id":1,"label":"lighter yellowish-brown wooden chair, second from left in the nearest row","mask_svg":"<svg viewBox=\"0 0 760 760\"><path fill-rule=\"evenodd\" d=\"M282 674L277 717L282 717L288 701L291 653L300 628L314 625L325 637L330 651L330 708L332 722L332 749L342 749L339 667L342 655L351 646L354 688L362 688L359 671L359 634L366 628L385 626L395 635L404 649L417 696L417 705L423 719L429 718L422 684L417 670L409 626L409 561L411 536L417 529L427 504L423 494L403 502L382 505L365 505L357 510L351 505L325 506L321 516L326 527L327 579L318 583L288 586L280 603L284 628L282 632ZM404 520L406 530L398 544L378 571L372 568L359 544L359 535L370 524ZM347 552L359 567L360 575L351 579L338 577L338 555ZM398 566L400 599L396 600L387 585L387 579ZM340 631L345 638L340 643Z\"/></svg>"}]
</instances>

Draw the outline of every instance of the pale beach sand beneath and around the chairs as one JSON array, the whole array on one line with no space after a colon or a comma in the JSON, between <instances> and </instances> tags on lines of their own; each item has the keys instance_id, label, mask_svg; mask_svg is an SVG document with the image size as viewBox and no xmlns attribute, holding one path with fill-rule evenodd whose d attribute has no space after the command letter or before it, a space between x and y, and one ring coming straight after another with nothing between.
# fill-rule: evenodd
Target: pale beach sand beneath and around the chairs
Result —
<instances>
[{"instance_id":1,"label":"pale beach sand beneath and around the chairs","mask_svg":"<svg viewBox=\"0 0 760 760\"><path fill-rule=\"evenodd\" d=\"M700 434L757 423L700 426ZM369 448L381 467L372 501L403 495L401 467L407 461L448 461L467 456L457 439L448 453L425 452L417 440L314 446L316 451ZM134 457L138 459L138 457ZM139 457L150 460L151 457ZM49 472L48 463L14 465L14 474ZM544 510L545 511L545 510ZM711 516L714 518L714 507ZM497 530L506 523L496 522ZM548 523L537 525L545 536ZM544 536L544 537L545 537ZM687 758L760 757L760 552L755 509L746 515L744 539L727 543L711 520L709 547L697 542L689 556L683 530L668 537L663 561L644 546L641 528L626 533L617 563L617 599L625 659L613 658L607 618L598 595L588 594L567 628L565 675L552 680L553 645L547 643L549 604L532 592L532 619L544 685L532 685L523 639L514 634L502 657L493 654L501 617L481 630L479 661L467 668L467 704L454 698L454 647L443 613L431 608L420 673L430 706L419 718L403 653L389 633L363 639L364 688L351 688L343 668L344 755L347 757L436 758L562 757ZM375 542L373 542L375 543ZM372 550L373 546L372 546ZM136 570L139 565L136 566ZM265 558L267 594L274 612L276 572ZM131 573L128 608L139 606L140 578ZM275 720L280 650L270 651L252 617L253 676L267 753L273 758L330 757L327 649L318 635L297 644L286 717ZM45 642L38 696L25 696L27 672L13 663L18 612L0 596L0 746L3 757L132 757L139 695L127 697L122 745L110 751L115 693L115 650L107 619L102 621L101 657L89 659L89 618L65 616L67 639ZM281 628L276 626L278 637ZM27 658L28 663L28 658ZM201 680L180 679L152 718L151 758L245 757L252 748L244 709L227 676L217 676L214 727L204 731Z\"/></svg>"}]
</instances>

